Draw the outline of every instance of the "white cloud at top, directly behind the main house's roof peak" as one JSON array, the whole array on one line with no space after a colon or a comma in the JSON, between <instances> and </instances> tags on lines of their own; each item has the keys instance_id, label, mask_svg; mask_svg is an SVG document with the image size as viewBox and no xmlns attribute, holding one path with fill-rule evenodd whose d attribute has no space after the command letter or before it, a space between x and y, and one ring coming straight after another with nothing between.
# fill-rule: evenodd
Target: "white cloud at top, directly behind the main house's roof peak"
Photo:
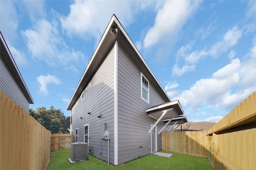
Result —
<instances>
[{"instance_id":1,"label":"white cloud at top, directly behind the main house's roof peak","mask_svg":"<svg viewBox=\"0 0 256 170\"><path fill-rule=\"evenodd\" d=\"M62 28L68 34L90 34L97 40L104 32L110 17L116 14L124 28L133 22L134 16L149 3L140 1L74 1L68 16L61 16ZM86 36L84 36L86 38Z\"/></svg>"}]
</instances>

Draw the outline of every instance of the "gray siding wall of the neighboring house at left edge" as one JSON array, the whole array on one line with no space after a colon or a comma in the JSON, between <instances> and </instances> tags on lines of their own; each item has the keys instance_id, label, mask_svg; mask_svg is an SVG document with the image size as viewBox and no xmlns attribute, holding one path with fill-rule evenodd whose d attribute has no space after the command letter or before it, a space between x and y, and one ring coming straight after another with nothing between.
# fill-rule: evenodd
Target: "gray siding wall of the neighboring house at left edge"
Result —
<instances>
[{"instance_id":1,"label":"gray siding wall of the neighboring house at left edge","mask_svg":"<svg viewBox=\"0 0 256 170\"><path fill-rule=\"evenodd\" d=\"M6 67L6 63L2 59L2 56L0 60L0 89L24 111L29 113L29 102L20 90L9 69Z\"/></svg>"}]
</instances>

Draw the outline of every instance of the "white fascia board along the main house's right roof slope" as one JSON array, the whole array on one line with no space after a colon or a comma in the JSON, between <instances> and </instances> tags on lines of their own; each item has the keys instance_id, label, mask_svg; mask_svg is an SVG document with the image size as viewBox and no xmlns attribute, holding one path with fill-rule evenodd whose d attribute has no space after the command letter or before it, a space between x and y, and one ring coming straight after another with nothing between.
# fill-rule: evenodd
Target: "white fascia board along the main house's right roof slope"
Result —
<instances>
[{"instance_id":1,"label":"white fascia board along the main house's right roof slope","mask_svg":"<svg viewBox=\"0 0 256 170\"><path fill-rule=\"evenodd\" d=\"M124 34L124 36L126 37L126 39L128 40L128 42L132 45L133 49L136 51L136 53L138 54L138 56L140 57L140 59L142 60L142 62L144 63L144 65L147 67L148 71L151 73L151 75L154 77L154 79L156 80L156 82L158 83L158 85L161 87L162 91L164 91L164 94L166 95L166 97L171 101L170 97L167 95L166 91L164 90L164 88L162 87L162 85L159 83L158 79L156 79L156 76L154 75L154 73L151 71L150 67L148 66L148 64L146 63L146 61L144 60L144 58L142 57L142 55L140 54L140 52L138 51L137 47L134 45L134 43L132 42L132 40L130 39L130 37L128 36L128 34L126 33L126 31L124 30L124 28L122 27L122 25L120 24L120 22L117 20L117 18L114 16L114 21L116 22L116 25L118 26L118 28L122 31L122 33Z\"/></svg>"}]
</instances>

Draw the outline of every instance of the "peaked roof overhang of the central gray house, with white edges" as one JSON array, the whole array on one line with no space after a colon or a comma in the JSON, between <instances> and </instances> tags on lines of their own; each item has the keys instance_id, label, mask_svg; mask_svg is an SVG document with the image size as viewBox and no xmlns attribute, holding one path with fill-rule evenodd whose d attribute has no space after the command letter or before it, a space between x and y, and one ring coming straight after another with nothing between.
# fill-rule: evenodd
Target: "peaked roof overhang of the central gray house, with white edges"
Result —
<instances>
[{"instance_id":1,"label":"peaked roof overhang of the central gray house, with white edges","mask_svg":"<svg viewBox=\"0 0 256 170\"><path fill-rule=\"evenodd\" d=\"M112 34L113 27L118 29L118 32L116 34ZM67 110L71 110L78 98L80 97L82 91L85 89L85 87L90 82L90 79L92 79L94 73L104 60L106 54L111 49L111 47L114 45L114 42L117 41L118 45L121 45L125 50L126 53L128 53L128 56L134 61L134 64L138 65L142 73L147 77L147 79L150 81L150 84L153 85L158 93L163 97L163 99L166 102L171 101L168 97L166 91L164 91L162 85L159 83L159 81L156 79L155 75L151 71L151 69L148 67L148 64L143 59L142 55L116 18L116 16L113 14L110 22L108 23L108 26L100 39L100 42L98 43L96 50L94 51L92 58L90 59L77 87L74 91L72 98L68 104Z\"/></svg>"}]
</instances>

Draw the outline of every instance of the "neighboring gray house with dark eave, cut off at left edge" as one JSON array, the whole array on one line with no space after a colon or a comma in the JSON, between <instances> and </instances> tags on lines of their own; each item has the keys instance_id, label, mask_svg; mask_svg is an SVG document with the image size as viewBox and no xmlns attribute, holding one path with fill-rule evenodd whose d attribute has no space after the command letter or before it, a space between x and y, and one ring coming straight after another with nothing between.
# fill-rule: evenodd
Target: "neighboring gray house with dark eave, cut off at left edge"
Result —
<instances>
[{"instance_id":1,"label":"neighboring gray house with dark eave, cut off at left edge","mask_svg":"<svg viewBox=\"0 0 256 170\"><path fill-rule=\"evenodd\" d=\"M0 39L0 90L29 113L29 104L34 104L34 101L1 32Z\"/></svg>"}]
</instances>

